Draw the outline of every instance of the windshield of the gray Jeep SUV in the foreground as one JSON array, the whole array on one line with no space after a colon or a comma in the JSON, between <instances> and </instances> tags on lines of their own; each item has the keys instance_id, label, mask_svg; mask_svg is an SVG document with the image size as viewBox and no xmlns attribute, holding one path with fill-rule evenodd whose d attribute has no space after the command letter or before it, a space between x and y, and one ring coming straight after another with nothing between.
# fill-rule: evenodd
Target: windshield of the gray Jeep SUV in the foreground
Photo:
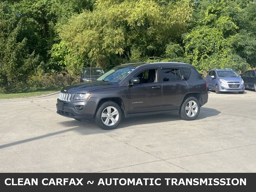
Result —
<instances>
[{"instance_id":1,"label":"windshield of the gray Jeep SUV in the foreground","mask_svg":"<svg viewBox=\"0 0 256 192\"><path fill-rule=\"evenodd\" d=\"M116 66L115 68L112 68L111 70L104 73L97 80L107 81L111 83L119 83L136 67L137 66Z\"/></svg>"}]
</instances>

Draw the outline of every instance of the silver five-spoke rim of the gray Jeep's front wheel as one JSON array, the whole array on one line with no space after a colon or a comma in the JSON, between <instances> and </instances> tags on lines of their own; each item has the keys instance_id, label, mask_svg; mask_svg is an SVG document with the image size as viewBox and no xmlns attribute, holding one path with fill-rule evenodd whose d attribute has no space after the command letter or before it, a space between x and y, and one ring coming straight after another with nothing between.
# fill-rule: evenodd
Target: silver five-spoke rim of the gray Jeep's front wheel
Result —
<instances>
[{"instance_id":1,"label":"silver five-spoke rim of the gray Jeep's front wheel","mask_svg":"<svg viewBox=\"0 0 256 192\"><path fill-rule=\"evenodd\" d=\"M106 126L113 126L119 118L118 110L113 106L106 107L101 114L101 120Z\"/></svg>"}]
</instances>

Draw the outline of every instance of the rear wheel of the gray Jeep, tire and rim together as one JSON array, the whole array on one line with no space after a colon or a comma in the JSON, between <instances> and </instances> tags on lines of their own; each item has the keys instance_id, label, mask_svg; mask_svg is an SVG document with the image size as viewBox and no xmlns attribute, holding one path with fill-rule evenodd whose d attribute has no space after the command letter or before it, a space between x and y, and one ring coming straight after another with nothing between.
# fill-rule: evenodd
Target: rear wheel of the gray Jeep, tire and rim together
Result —
<instances>
[{"instance_id":1,"label":"rear wheel of the gray Jeep, tire and rim together","mask_svg":"<svg viewBox=\"0 0 256 192\"><path fill-rule=\"evenodd\" d=\"M180 108L180 117L187 121L196 119L199 113L200 104L195 97L187 98Z\"/></svg>"}]
</instances>

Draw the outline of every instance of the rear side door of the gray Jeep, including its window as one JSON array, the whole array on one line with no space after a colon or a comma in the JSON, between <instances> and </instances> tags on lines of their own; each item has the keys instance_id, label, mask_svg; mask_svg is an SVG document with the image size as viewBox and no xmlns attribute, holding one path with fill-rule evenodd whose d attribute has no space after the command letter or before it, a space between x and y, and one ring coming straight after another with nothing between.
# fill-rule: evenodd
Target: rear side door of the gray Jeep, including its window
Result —
<instances>
[{"instance_id":1,"label":"rear side door of the gray Jeep, including its window","mask_svg":"<svg viewBox=\"0 0 256 192\"><path fill-rule=\"evenodd\" d=\"M191 69L190 69L191 70ZM179 66L161 66L162 111L179 109L188 85Z\"/></svg>"}]
</instances>

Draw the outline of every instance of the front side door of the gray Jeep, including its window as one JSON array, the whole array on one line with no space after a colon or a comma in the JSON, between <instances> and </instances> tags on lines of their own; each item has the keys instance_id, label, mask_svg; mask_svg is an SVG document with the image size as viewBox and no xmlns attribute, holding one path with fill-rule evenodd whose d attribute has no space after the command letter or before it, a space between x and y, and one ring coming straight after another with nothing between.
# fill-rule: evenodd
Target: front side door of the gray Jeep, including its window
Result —
<instances>
[{"instance_id":1,"label":"front side door of the gray Jeep, including its window","mask_svg":"<svg viewBox=\"0 0 256 192\"><path fill-rule=\"evenodd\" d=\"M129 113L161 111L162 85L158 82L158 67L144 68L132 78L139 84L129 86Z\"/></svg>"}]
</instances>

